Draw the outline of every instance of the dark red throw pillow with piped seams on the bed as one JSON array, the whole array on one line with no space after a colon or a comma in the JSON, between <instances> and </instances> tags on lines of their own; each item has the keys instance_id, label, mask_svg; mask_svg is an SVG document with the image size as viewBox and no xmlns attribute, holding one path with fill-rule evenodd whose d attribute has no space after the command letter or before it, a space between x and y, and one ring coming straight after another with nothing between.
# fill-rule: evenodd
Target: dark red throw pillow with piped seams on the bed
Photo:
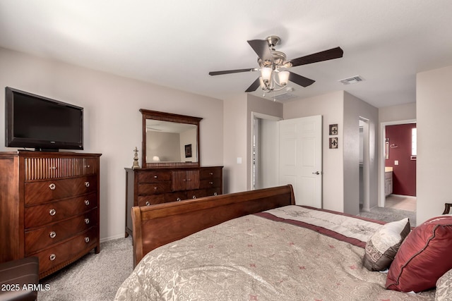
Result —
<instances>
[{"instance_id":1,"label":"dark red throw pillow with piped seams on the bed","mask_svg":"<svg viewBox=\"0 0 452 301\"><path fill-rule=\"evenodd\" d=\"M414 228L400 245L386 288L418 293L434 288L452 269L452 216L437 216Z\"/></svg>"}]
</instances>

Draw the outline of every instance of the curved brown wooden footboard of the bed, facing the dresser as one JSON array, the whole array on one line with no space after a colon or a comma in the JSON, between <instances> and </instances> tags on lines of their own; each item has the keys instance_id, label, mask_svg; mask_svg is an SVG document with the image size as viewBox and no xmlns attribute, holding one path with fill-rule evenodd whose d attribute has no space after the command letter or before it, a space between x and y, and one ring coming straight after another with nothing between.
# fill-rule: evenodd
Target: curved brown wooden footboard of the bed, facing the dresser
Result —
<instances>
[{"instance_id":1,"label":"curved brown wooden footboard of the bed, facing the dresser","mask_svg":"<svg viewBox=\"0 0 452 301\"><path fill-rule=\"evenodd\" d=\"M132 207L133 264L161 245L246 214L295 204L291 185Z\"/></svg>"}]
</instances>

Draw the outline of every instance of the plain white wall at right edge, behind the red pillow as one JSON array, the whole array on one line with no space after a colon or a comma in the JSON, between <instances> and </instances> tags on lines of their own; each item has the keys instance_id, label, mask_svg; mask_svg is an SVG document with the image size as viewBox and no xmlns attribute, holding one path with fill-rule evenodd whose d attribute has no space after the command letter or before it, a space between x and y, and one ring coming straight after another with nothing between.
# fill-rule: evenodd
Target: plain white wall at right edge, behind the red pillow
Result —
<instances>
[{"instance_id":1,"label":"plain white wall at right edge, behind the red pillow","mask_svg":"<svg viewBox=\"0 0 452 301\"><path fill-rule=\"evenodd\" d=\"M452 66L416 77L418 225L452 202L451 82Z\"/></svg>"}]
</instances>

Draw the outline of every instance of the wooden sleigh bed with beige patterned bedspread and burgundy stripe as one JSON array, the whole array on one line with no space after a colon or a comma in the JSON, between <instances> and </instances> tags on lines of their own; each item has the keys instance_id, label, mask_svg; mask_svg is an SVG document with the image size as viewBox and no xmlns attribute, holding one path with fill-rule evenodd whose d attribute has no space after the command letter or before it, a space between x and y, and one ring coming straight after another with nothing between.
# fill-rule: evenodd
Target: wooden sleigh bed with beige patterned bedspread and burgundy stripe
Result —
<instances>
[{"instance_id":1,"label":"wooden sleigh bed with beige patterned bedspread and burgundy stripe","mask_svg":"<svg viewBox=\"0 0 452 301\"><path fill-rule=\"evenodd\" d=\"M290 185L133 207L132 220L136 268L115 300L447 300L435 294L448 278L436 291L386 289L363 258L389 224L295 206Z\"/></svg>"}]
</instances>

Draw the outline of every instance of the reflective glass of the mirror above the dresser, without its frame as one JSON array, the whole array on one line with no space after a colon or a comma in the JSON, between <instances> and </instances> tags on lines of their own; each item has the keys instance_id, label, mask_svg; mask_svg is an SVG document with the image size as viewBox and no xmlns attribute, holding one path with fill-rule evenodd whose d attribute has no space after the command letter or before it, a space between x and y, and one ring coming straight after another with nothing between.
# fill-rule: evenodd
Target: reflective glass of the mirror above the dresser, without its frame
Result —
<instances>
[{"instance_id":1,"label":"reflective glass of the mirror above the dresser, without its frame","mask_svg":"<svg viewBox=\"0 0 452 301\"><path fill-rule=\"evenodd\" d=\"M146 119L146 162L197 162L197 126Z\"/></svg>"}]
</instances>

